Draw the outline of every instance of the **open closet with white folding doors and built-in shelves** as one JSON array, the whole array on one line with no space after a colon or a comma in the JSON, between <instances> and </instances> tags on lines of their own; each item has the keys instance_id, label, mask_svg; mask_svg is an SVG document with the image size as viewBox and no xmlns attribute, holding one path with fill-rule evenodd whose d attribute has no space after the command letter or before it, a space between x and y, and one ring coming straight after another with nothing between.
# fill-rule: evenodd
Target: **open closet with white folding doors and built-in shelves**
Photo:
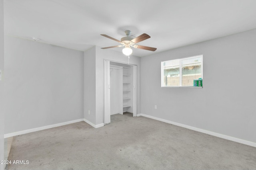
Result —
<instances>
[{"instance_id":1,"label":"open closet with white folding doors and built-in shelves","mask_svg":"<svg viewBox=\"0 0 256 170\"><path fill-rule=\"evenodd\" d=\"M137 116L137 66L103 60L104 69L104 125L110 115L133 113Z\"/></svg>"}]
</instances>

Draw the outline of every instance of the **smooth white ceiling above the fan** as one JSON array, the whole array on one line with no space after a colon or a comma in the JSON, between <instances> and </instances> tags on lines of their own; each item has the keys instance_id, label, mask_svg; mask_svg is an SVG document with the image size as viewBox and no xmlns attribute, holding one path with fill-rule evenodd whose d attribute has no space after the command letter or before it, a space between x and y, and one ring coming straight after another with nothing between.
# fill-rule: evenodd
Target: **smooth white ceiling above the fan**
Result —
<instances>
[{"instance_id":1,"label":"smooth white ceiling above the fan","mask_svg":"<svg viewBox=\"0 0 256 170\"><path fill-rule=\"evenodd\" d=\"M136 56L256 28L256 0L4 0L5 34L85 51L147 33ZM122 51L122 47L102 50Z\"/></svg>"}]
</instances>

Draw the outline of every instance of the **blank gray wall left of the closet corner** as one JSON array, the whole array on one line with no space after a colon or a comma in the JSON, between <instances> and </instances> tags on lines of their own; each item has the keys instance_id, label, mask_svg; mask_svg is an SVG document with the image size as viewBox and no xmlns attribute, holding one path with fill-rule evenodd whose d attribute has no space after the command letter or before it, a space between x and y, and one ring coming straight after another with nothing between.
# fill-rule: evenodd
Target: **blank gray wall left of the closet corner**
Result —
<instances>
[{"instance_id":1,"label":"blank gray wall left of the closet corner","mask_svg":"<svg viewBox=\"0 0 256 170\"><path fill-rule=\"evenodd\" d=\"M84 52L5 36L5 134L83 118Z\"/></svg>"}]
</instances>

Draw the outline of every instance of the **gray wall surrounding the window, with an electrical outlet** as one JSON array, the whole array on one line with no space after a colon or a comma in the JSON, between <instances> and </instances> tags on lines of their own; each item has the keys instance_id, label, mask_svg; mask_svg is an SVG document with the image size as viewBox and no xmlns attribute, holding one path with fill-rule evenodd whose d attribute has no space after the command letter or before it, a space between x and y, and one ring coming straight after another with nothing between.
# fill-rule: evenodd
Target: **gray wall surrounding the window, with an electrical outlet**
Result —
<instances>
[{"instance_id":1,"label":"gray wall surrounding the window, with an electrical outlet","mask_svg":"<svg viewBox=\"0 0 256 170\"><path fill-rule=\"evenodd\" d=\"M142 57L141 113L256 143L255 45L252 29ZM161 61L198 54L203 88L161 88Z\"/></svg>"}]
</instances>

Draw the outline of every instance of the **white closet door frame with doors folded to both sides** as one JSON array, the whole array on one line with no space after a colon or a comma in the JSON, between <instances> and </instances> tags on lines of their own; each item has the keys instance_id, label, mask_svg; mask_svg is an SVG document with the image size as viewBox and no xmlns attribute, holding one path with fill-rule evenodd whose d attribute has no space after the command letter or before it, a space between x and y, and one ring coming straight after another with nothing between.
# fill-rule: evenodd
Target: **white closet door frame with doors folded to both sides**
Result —
<instances>
[{"instance_id":1,"label":"white closet door frame with doors folded to both sides","mask_svg":"<svg viewBox=\"0 0 256 170\"><path fill-rule=\"evenodd\" d=\"M105 60L103 59L103 70L104 70L104 106L103 106L103 123L104 125L110 123L110 60ZM112 61L116 63L121 63L118 61ZM122 63L122 64L128 64L128 63ZM133 74L134 74L134 81L133 81L133 87L134 87L134 92L133 92L133 117L137 116L137 98L138 98L138 93L137 93L137 65L134 64L128 64L133 66Z\"/></svg>"}]
</instances>

